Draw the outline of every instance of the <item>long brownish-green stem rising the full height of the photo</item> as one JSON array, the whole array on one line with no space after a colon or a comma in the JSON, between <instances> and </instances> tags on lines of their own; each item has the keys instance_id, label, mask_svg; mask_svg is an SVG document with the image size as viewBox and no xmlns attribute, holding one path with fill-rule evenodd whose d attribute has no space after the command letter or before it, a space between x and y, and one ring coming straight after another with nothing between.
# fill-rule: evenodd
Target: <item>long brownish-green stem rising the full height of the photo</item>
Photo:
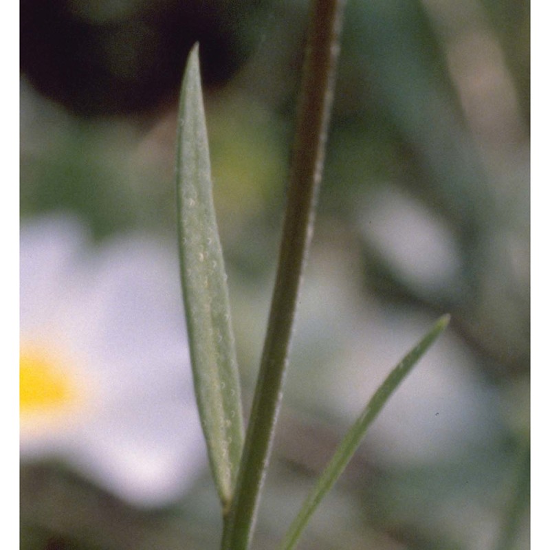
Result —
<instances>
[{"instance_id":1,"label":"long brownish-green stem rising the full height of the photo","mask_svg":"<svg viewBox=\"0 0 550 550\"><path fill-rule=\"evenodd\" d=\"M247 550L281 404L298 291L325 159L344 0L313 0L287 209L270 319L222 548Z\"/></svg>"}]
</instances>

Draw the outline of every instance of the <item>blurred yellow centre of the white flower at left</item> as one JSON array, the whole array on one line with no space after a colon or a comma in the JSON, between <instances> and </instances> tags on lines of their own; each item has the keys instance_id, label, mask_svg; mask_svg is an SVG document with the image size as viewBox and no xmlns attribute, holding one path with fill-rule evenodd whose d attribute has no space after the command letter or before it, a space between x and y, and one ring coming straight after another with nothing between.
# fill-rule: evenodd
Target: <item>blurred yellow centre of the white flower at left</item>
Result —
<instances>
[{"instance_id":1,"label":"blurred yellow centre of the white flower at left","mask_svg":"<svg viewBox=\"0 0 550 550\"><path fill-rule=\"evenodd\" d=\"M21 346L19 415L25 428L39 428L61 417L70 423L72 413L85 402L83 389L83 380L68 358L47 347Z\"/></svg>"}]
</instances>

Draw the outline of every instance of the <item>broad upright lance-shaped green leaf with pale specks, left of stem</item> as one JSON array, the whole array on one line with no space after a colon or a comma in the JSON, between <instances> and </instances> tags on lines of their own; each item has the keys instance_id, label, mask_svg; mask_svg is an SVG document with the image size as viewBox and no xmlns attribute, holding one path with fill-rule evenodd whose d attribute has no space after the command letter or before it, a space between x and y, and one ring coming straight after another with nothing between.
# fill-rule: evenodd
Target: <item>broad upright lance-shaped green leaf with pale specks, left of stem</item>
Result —
<instances>
[{"instance_id":1,"label":"broad upright lance-shaped green leaf with pale specks, left of stem","mask_svg":"<svg viewBox=\"0 0 550 550\"><path fill-rule=\"evenodd\" d=\"M176 186L181 284L195 394L210 467L227 510L241 459L243 414L227 276L212 199L198 45L189 54L181 89Z\"/></svg>"}]
</instances>

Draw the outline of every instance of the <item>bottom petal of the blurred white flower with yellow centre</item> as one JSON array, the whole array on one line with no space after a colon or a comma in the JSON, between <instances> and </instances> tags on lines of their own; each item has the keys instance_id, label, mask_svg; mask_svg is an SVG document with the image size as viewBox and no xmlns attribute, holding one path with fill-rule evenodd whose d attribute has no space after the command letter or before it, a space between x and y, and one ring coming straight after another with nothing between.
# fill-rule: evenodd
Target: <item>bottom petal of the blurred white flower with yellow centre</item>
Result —
<instances>
[{"instance_id":1,"label":"bottom petal of the blurred white flower with yellow centre","mask_svg":"<svg viewBox=\"0 0 550 550\"><path fill-rule=\"evenodd\" d=\"M136 402L106 411L67 453L104 489L150 507L180 498L206 465L194 401Z\"/></svg>"}]
</instances>

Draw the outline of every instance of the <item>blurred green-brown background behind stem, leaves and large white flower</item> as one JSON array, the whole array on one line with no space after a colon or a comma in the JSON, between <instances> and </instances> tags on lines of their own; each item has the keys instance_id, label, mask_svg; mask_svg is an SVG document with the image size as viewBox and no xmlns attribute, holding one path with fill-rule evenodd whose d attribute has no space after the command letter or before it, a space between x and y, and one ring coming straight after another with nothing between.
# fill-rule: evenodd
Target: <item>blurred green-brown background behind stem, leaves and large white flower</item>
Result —
<instances>
[{"instance_id":1,"label":"blurred green-brown background behind stem, leaves and large white flower","mask_svg":"<svg viewBox=\"0 0 550 550\"><path fill-rule=\"evenodd\" d=\"M98 242L139 228L177 254L177 96L199 41L245 410L307 8L20 3L21 222L70 212ZM256 548L276 546L384 375L447 311L450 329L392 397L300 548L529 548L529 40L527 0L348 1ZM177 503L154 509L63 464L21 465L22 549L217 548L220 527L206 465Z\"/></svg>"}]
</instances>

